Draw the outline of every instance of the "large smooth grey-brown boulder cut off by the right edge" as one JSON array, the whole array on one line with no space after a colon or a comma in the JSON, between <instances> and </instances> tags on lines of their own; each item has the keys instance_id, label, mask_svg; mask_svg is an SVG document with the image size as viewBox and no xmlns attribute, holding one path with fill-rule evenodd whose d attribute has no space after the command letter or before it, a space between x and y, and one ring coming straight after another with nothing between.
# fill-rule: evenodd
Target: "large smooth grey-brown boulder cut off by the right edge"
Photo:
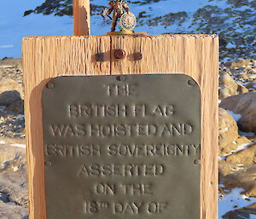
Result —
<instances>
[{"instance_id":1,"label":"large smooth grey-brown boulder cut off by the right edge","mask_svg":"<svg viewBox=\"0 0 256 219\"><path fill-rule=\"evenodd\" d=\"M238 120L240 130L256 133L256 92L227 97L219 106L241 114Z\"/></svg>"}]
</instances>

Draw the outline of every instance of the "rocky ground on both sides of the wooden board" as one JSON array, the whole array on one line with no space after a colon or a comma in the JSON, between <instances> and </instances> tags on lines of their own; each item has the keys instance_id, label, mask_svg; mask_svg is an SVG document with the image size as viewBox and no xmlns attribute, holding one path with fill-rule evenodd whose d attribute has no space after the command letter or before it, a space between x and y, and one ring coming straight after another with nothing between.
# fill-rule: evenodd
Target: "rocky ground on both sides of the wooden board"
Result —
<instances>
[{"instance_id":1,"label":"rocky ground on both sides of the wooden board","mask_svg":"<svg viewBox=\"0 0 256 219\"><path fill-rule=\"evenodd\" d=\"M219 70L219 219L256 218L256 61ZM20 59L0 61L0 218L26 219Z\"/></svg>"}]
</instances>

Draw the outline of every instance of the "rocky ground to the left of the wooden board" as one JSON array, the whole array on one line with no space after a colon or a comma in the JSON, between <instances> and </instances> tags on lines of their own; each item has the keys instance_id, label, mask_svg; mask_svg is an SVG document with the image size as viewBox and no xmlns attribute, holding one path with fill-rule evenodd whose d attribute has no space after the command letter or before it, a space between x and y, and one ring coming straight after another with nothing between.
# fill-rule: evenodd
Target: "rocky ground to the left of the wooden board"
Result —
<instances>
[{"instance_id":1,"label":"rocky ground to the left of the wooden board","mask_svg":"<svg viewBox=\"0 0 256 219\"><path fill-rule=\"evenodd\" d=\"M27 219L21 60L0 61L0 218Z\"/></svg>"}]
</instances>

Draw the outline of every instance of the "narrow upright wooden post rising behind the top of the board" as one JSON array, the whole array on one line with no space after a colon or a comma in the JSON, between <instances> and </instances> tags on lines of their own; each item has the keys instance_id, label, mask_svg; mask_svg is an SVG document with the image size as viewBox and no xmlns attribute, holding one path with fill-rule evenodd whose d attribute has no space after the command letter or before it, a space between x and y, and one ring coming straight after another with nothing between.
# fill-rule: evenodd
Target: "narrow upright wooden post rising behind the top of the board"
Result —
<instances>
[{"instance_id":1,"label":"narrow upright wooden post rising behind the top of the board","mask_svg":"<svg viewBox=\"0 0 256 219\"><path fill-rule=\"evenodd\" d=\"M73 0L73 35L90 35L90 0Z\"/></svg>"}]
</instances>

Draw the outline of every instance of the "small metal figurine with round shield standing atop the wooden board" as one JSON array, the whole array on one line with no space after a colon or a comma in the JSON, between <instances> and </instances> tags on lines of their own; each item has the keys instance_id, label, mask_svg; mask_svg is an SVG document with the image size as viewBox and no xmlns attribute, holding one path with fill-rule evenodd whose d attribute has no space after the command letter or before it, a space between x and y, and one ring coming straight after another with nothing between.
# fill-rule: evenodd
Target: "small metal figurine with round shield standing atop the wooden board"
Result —
<instances>
[{"instance_id":1,"label":"small metal figurine with round shield standing atop the wooden board","mask_svg":"<svg viewBox=\"0 0 256 219\"><path fill-rule=\"evenodd\" d=\"M109 17L112 19L109 15L113 12L111 32L115 32L115 28L119 20L120 31L132 33L132 30L136 26L137 20L135 15L130 12L127 2L125 0L110 0L108 5L109 8L103 9L102 17Z\"/></svg>"}]
</instances>

